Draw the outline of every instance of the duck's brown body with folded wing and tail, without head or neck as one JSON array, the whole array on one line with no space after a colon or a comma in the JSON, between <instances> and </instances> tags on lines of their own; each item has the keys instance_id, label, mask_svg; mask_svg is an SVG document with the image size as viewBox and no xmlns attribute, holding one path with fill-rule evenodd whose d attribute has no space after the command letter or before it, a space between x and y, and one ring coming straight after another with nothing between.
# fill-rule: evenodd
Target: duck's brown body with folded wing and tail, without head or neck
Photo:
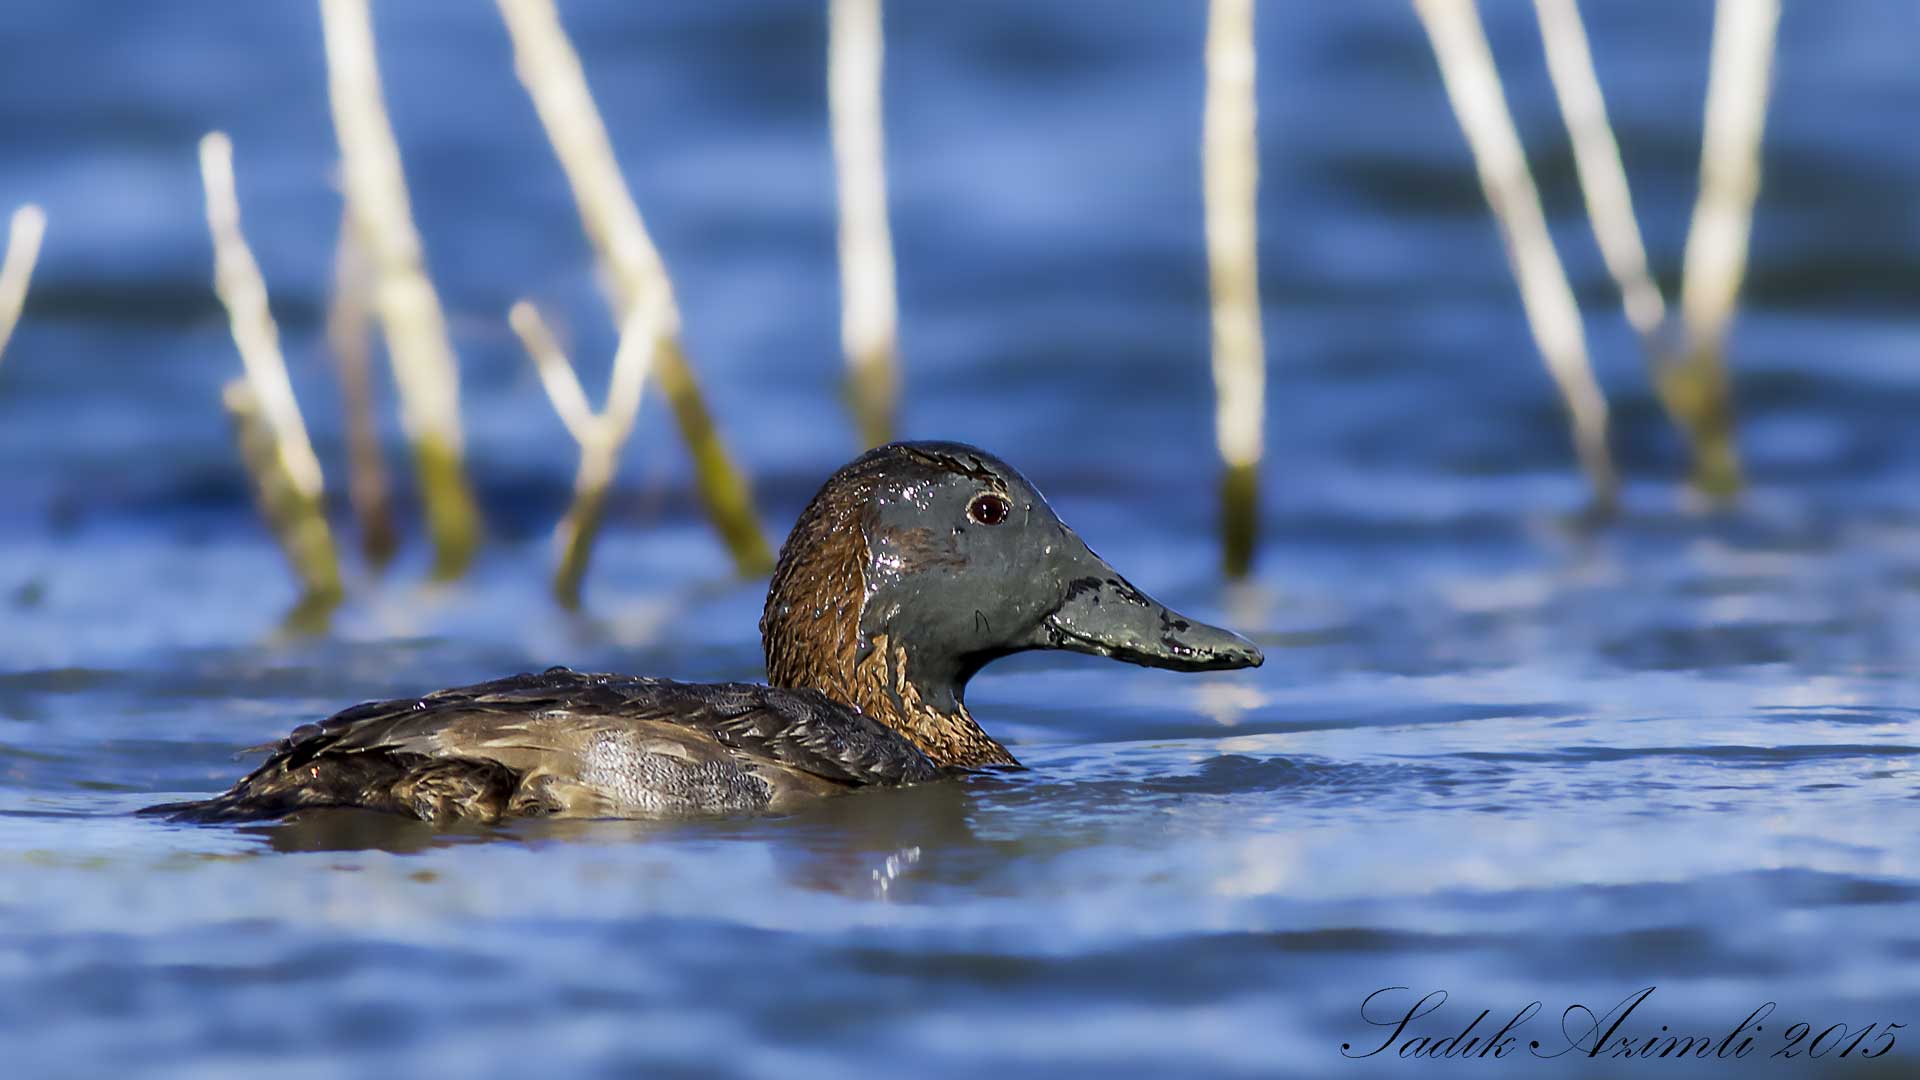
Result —
<instances>
[{"instance_id":1,"label":"duck's brown body with folded wing and tail, without head or neck","mask_svg":"<svg viewBox=\"0 0 1920 1080\"><path fill-rule=\"evenodd\" d=\"M150 813L649 817L770 809L943 774L906 738L812 690L549 669L353 705L294 728L232 790Z\"/></svg>"}]
</instances>

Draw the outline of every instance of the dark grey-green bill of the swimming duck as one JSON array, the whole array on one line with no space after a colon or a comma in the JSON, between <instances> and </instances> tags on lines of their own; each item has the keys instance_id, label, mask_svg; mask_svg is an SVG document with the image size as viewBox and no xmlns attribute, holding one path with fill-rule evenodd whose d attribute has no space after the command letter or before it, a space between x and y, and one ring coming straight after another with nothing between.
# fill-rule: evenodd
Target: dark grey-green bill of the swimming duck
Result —
<instances>
[{"instance_id":1,"label":"dark grey-green bill of the swimming duck","mask_svg":"<svg viewBox=\"0 0 1920 1080\"><path fill-rule=\"evenodd\" d=\"M1208 626L1133 588L1085 544L1066 575L1066 600L1041 621L1039 648L1069 650L1171 671L1260 667L1260 646Z\"/></svg>"}]
</instances>

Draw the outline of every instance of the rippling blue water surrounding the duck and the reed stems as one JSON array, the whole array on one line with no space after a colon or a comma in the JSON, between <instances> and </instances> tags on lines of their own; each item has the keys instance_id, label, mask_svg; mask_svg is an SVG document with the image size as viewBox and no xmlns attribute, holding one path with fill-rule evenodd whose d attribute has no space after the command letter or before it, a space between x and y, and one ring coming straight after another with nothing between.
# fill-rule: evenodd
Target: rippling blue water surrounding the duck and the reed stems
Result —
<instances>
[{"instance_id":1,"label":"rippling blue water surrounding the duck and the reed stems","mask_svg":"<svg viewBox=\"0 0 1920 1080\"><path fill-rule=\"evenodd\" d=\"M234 753L351 700L551 663L760 675L649 400L588 588L553 609L572 448L505 329L588 384L612 334L486 6L382 6L394 121L465 365L495 544L409 550L324 638L219 411L194 140L248 231L340 477L321 352L338 213L315 13L69 2L0 17L0 208L52 219L0 365L0 1045L31 1076L1745 1074L1807 1020L1920 1049L1920 110L1910 6L1791 6L1734 350L1755 486L1688 509L1578 215L1524 6L1488 6L1632 484L1603 532L1413 15L1261 8L1271 344L1260 577L1212 540L1196 6L889 10L904 429L981 442L1260 671L1018 657L970 703L1029 773L776 819L188 828ZM1711 10L1590 4L1661 279ZM856 450L837 394L814 6L570 4L712 405L783 530ZM390 430L390 434L394 434ZM1726 1061L1404 1063L1361 1019L1476 1034L1657 986L1622 1034ZM1751 1034L1751 1032L1749 1032ZM1905 1055L1905 1057L1903 1057Z\"/></svg>"}]
</instances>

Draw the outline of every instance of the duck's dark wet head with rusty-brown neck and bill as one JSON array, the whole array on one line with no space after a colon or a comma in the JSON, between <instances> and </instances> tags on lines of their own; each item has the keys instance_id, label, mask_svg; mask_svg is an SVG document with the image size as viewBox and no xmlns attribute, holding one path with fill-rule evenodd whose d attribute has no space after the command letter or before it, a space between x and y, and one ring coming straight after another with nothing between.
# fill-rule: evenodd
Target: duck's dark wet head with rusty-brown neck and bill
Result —
<instances>
[{"instance_id":1,"label":"duck's dark wet head with rusty-brown neck and bill","mask_svg":"<svg viewBox=\"0 0 1920 1080\"><path fill-rule=\"evenodd\" d=\"M895 442L828 479L780 550L760 638L774 686L820 690L964 767L1016 765L964 701L996 657L1261 663L1246 638L1129 584L1025 477L958 442Z\"/></svg>"}]
</instances>

